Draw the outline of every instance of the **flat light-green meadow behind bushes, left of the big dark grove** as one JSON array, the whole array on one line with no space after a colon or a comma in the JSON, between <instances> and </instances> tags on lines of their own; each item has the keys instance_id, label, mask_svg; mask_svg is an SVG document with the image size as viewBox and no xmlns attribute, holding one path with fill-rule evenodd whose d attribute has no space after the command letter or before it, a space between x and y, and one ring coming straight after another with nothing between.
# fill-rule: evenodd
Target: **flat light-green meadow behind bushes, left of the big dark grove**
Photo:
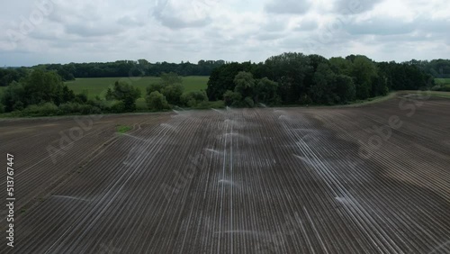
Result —
<instances>
[{"instance_id":1,"label":"flat light-green meadow behind bushes, left of the big dark grove","mask_svg":"<svg viewBox=\"0 0 450 254\"><path fill-rule=\"evenodd\" d=\"M206 84L210 77L191 76L183 77L184 91L206 90ZM129 80L128 77L98 77L98 78L76 78L75 81L66 82L67 86L74 90L76 94L87 90L88 97L94 98L95 95L101 95L109 86L113 86L117 80ZM159 77L142 77L132 80L132 85L139 87L142 96L145 95L147 86L152 82L157 82ZM129 80L130 81L130 80Z\"/></svg>"}]
</instances>

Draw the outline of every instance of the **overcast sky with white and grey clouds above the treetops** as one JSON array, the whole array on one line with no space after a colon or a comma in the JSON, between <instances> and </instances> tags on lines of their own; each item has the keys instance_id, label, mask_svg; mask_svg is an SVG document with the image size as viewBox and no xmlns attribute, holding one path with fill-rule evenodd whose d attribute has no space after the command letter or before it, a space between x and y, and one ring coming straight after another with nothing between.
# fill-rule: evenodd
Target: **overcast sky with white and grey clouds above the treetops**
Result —
<instances>
[{"instance_id":1,"label":"overcast sky with white and grey clouds above the treetops","mask_svg":"<svg viewBox=\"0 0 450 254\"><path fill-rule=\"evenodd\" d=\"M449 59L448 0L17 0L0 4L0 66L148 59Z\"/></svg>"}]
</instances>

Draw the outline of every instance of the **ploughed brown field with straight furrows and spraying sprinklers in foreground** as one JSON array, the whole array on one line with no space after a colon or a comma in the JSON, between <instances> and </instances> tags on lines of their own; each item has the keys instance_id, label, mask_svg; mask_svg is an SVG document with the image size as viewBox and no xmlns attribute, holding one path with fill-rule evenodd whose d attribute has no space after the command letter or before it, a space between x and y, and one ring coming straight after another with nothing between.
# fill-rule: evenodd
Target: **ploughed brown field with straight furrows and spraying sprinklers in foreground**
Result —
<instances>
[{"instance_id":1,"label":"ploughed brown field with straight furrows and spraying sprinklers in foreground","mask_svg":"<svg viewBox=\"0 0 450 254\"><path fill-rule=\"evenodd\" d=\"M1 121L0 252L450 253L450 100L400 103L104 116L56 161L72 118Z\"/></svg>"}]
</instances>

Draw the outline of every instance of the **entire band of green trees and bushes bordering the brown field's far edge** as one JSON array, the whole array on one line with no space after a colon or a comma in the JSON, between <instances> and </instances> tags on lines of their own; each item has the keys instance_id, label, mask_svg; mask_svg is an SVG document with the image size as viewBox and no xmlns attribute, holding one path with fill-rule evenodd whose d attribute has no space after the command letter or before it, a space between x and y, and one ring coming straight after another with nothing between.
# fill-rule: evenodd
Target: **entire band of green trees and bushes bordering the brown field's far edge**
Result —
<instances>
[{"instance_id":1,"label":"entire band of green trees and bushes bordering the brown field's far edge","mask_svg":"<svg viewBox=\"0 0 450 254\"><path fill-rule=\"evenodd\" d=\"M436 65L439 75L446 74L443 61L429 63ZM58 70L18 68L2 77L12 81L0 94L0 113L27 116L135 112L140 97L145 99L145 110L150 111L177 106L348 104L395 90L433 88L434 76L427 66L424 61L375 62L362 55L326 59L290 52L261 63L220 62L211 71L206 91L185 92L183 77L176 72L162 72L157 82L148 84L143 96L132 84L117 81L94 99L70 90ZM1 71L4 73L4 69Z\"/></svg>"}]
</instances>

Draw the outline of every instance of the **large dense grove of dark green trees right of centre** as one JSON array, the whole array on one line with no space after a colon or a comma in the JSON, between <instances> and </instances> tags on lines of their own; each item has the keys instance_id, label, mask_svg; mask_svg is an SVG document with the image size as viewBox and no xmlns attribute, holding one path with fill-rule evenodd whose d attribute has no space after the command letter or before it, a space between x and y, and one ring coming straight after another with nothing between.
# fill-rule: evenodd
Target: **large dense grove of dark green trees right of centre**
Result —
<instances>
[{"instance_id":1,"label":"large dense grove of dark green trees right of centre","mask_svg":"<svg viewBox=\"0 0 450 254\"><path fill-rule=\"evenodd\" d=\"M434 79L410 62L375 62L362 55L326 59L284 53L262 63L215 68L206 90L227 105L348 104L395 90L429 89Z\"/></svg>"}]
</instances>

